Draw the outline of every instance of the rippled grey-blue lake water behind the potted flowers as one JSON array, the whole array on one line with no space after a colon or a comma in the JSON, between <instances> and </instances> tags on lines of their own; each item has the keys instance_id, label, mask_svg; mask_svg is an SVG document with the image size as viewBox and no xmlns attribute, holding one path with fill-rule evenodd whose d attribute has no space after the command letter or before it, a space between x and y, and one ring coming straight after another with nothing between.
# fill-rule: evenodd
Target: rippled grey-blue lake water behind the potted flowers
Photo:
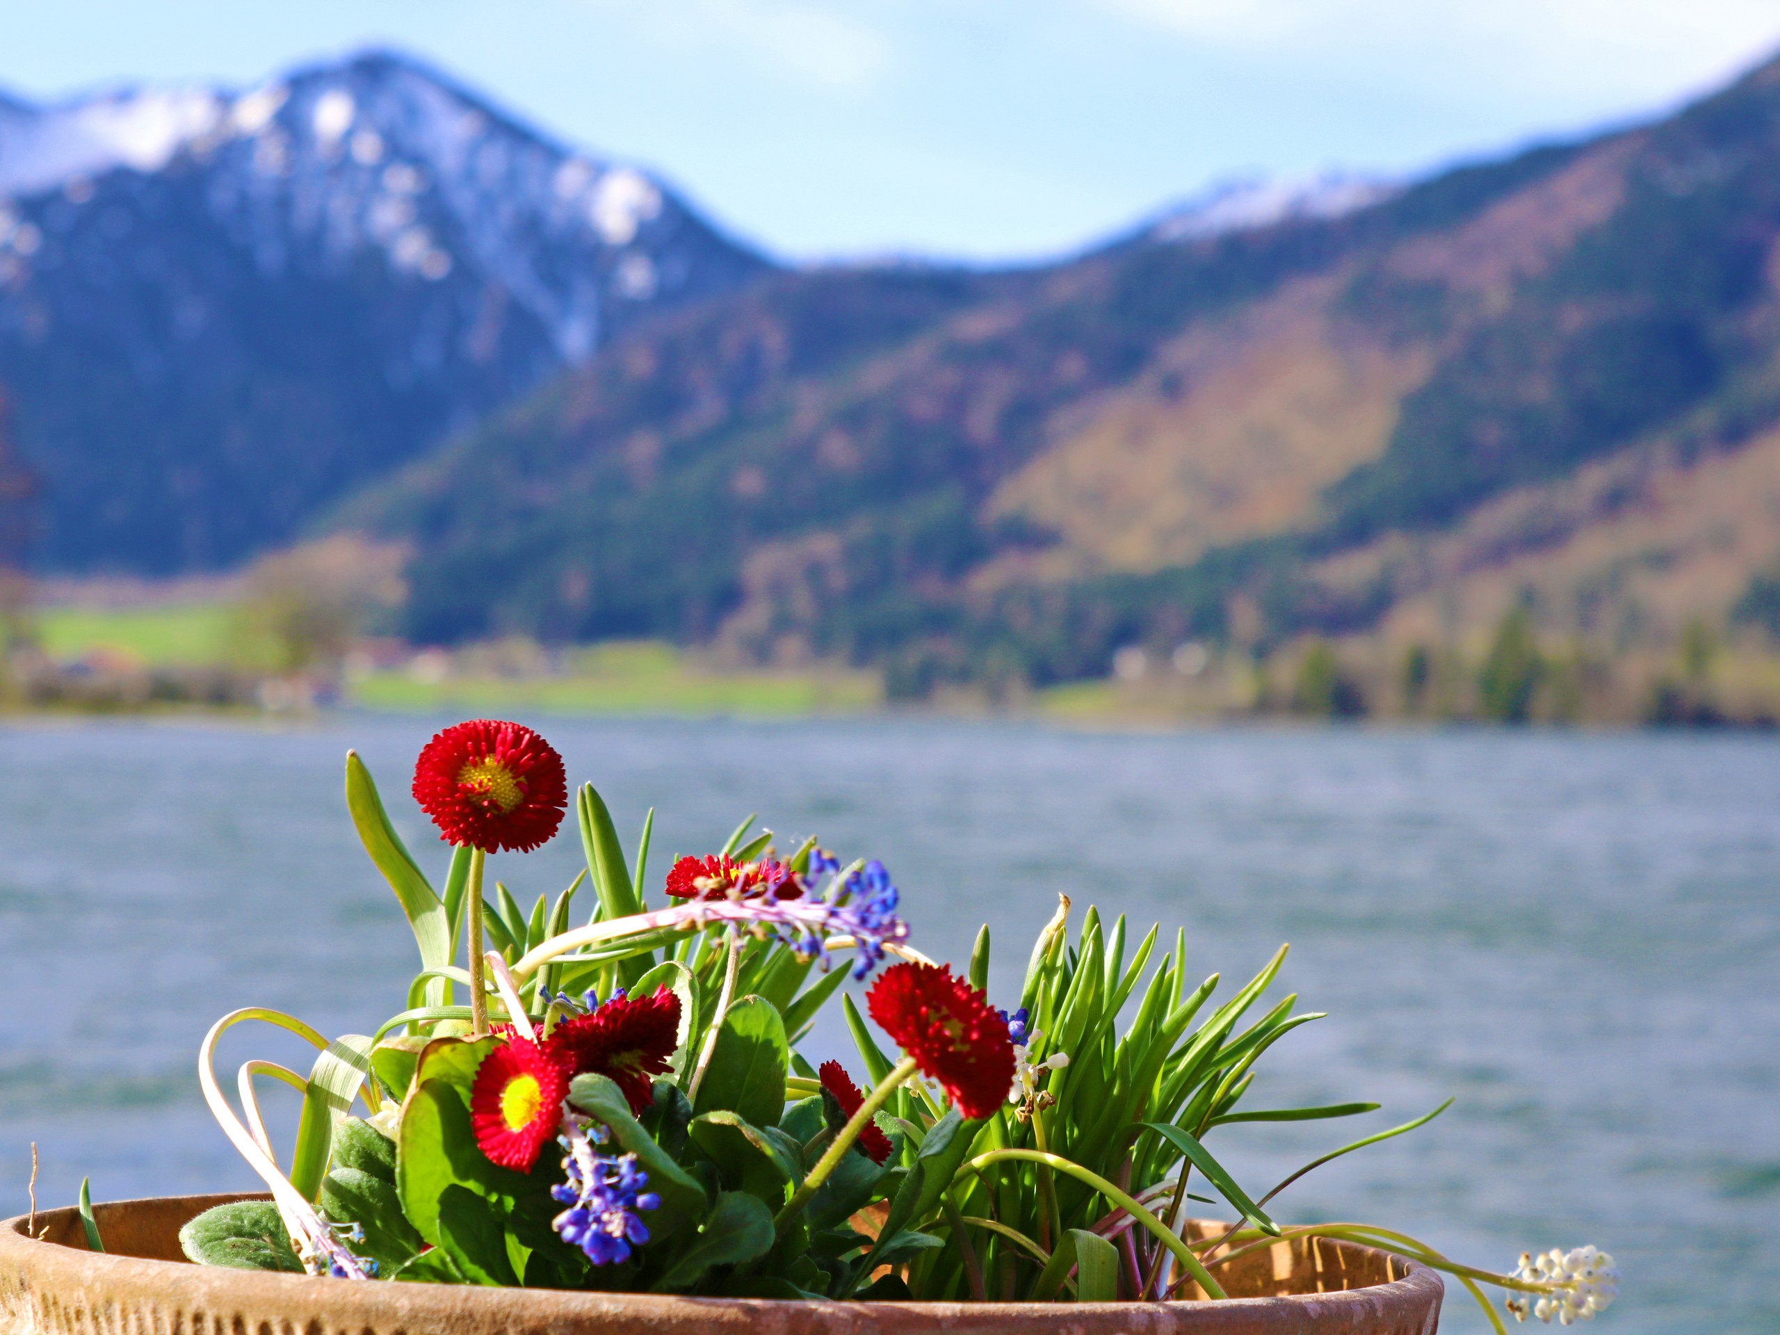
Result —
<instances>
[{"instance_id":1,"label":"rippled grey-blue lake water behind the potted flowers","mask_svg":"<svg viewBox=\"0 0 1780 1335\"><path fill-rule=\"evenodd\" d=\"M0 728L0 1207L253 1187L194 1056L224 1009L368 1032L413 938L340 796L356 746L429 869L406 797L424 721ZM666 856L758 810L881 856L915 940L963 961L979 922L1011 997L1059 892L1185 924L1226 990L1280 943L1301 1007L1251 1105L1372 1098L1317 1127L1230 1127L1251 1189L1433 1107L1408 1137L1282 1198L1508 1267L1597 1242L1625 1274L1604 1331L1780 1330L1780 740L1707 735L1187 732L933 721L555 721L570 778ZM627 842L628 842L627 835ZM493 874L561 890L559 838ZM659 890L657 890L659 897ZM240 1031L237 1031L240 1034ZM233 1038L233 1036L231 1036ZM224 1048L292 1064L265 1031ZM840 1052L833 1027L806 1045ZM304 1061L306 1064L306 1061ZM279 1095L267 1096L278 1102ZM292 1118L285 1116L288 1134ZM1363 1130L1360 1130L1363 1129ZM1447 1331L1485 1330L1463 1292Z\"/></svg>"}]
</instances>

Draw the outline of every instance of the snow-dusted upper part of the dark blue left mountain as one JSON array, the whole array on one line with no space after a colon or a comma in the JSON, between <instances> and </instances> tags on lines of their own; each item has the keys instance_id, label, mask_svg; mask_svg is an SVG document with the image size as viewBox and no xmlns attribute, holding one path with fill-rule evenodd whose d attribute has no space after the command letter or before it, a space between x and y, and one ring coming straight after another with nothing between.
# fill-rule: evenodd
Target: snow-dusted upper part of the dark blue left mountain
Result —
<instances>
[{"instance_id":1,"label":"snow-dusted upper part of the dark blue left mountain","mask_svg":"<svg viewBox=\"0 0 1780 1335\"><path fill-rule=\"evenodd\" d=\"M406 281L470 276L536 317L564 361L632 308L764 267L637 167L571 151L388 53L246 93L0 101L0 219L14 231L34 199L87 205L112 173L201 173L212 217L269 278L338 274L367 253ZM0 242L0 281L30 263Z\"/></svg>"}]
</instances>

